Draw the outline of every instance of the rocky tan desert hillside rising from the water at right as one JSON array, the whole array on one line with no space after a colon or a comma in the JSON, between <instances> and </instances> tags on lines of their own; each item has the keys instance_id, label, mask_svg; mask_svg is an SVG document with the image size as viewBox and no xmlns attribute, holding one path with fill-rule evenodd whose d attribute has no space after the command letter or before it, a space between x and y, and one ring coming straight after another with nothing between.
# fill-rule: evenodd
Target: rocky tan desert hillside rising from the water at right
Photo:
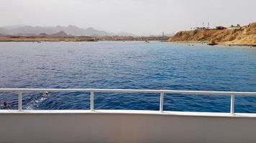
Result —
<instances>
[{"instance_id":1,"label":"rocky tan desert hillside rising from the water at right","mask_svg":"<svg viewBox=\"0 0 256 143\"><path fill-rule=\"evenodd\" d=\"M207 42L216 44L256 45L256 22L228 29L196 29L179 31L168 41Z\"/></svg>"}]
</instances>

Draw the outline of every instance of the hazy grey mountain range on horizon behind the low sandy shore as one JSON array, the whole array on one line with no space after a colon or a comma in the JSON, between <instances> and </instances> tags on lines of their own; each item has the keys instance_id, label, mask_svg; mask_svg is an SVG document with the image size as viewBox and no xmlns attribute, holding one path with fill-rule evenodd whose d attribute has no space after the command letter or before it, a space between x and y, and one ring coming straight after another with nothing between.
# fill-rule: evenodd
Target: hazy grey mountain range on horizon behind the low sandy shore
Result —
<instances>
[{"instance_id":1,"label":"hazy grey mountain range on horizon behind the low sandy shore","mask_svg":"<svg viewBox=\"0 0 256 143\"><path fill-rule=\"evenodd\" d=\"M106 32L106 31L93 29L92 27L89 27L88 29L81 29L78 26L73 26L73 25L69 25L69 26L5 26L5 27L0 28L1 34L12 34L12 35L19 35L19 36L22 36L22 35L34 36L34 35L40 35L40 34L51 35L51 34L56 34L60 31L63 31L67 35L74 35L74 36L113 36L113 35L116 35L113 33ZM62 32L62 34L63 34L63 32ZM132 36L133 34L128 34L128 33L122 32L117 35Z\"/></svg>"}]
</instances>

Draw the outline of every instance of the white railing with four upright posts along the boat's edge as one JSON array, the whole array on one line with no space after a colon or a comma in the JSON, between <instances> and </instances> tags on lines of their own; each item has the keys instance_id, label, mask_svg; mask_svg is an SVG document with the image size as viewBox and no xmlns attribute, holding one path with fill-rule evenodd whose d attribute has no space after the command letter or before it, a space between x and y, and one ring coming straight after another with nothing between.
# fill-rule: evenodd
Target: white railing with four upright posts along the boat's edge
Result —
<instances>
[{"instance_id":1,"label":"white railing with four upright posts along the boat's edge","mask_svg":"<svg viewBox=\"0 0 256 143\"><path fill-rule=\"evenodd\" d=\"M155 90L155 89L0 89L0 92L17 92L19 95L19 112L22 112L22 93L24 92L91 92L91 112L94 111L94 92L137 92L160 94L160 108L163 112L164 94L198 94L198 95L230 95L230 114L234 114L235 95L256 96L256 92L210 92L210 91L186 91L186 90Z\"/></svg>"}]
</instances>

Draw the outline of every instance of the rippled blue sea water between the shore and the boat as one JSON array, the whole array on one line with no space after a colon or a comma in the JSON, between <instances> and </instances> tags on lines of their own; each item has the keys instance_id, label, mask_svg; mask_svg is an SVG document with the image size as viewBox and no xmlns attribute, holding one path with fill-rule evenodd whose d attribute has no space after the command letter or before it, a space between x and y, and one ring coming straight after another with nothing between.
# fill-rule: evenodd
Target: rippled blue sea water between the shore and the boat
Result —
<instances>
[{"instance_id":1,"label":"rippled blue sea water between the shore and the boat","mask_svg":"<svg viewBox=\"0 0 256 143\"><path fill-rule=\"evenodd\" d=\"M0 88L178 89L256 92L256 49L152 41L0 43ZM89 109L88 92L24 93L24 109ZM95 93L95 109L158 110L160 94ZM17 109L17 93L0 92ZM229 112L230 95L165 94L164 110ZM256 97L235 100L256 112Z\"/></svg>"}]
</instances>

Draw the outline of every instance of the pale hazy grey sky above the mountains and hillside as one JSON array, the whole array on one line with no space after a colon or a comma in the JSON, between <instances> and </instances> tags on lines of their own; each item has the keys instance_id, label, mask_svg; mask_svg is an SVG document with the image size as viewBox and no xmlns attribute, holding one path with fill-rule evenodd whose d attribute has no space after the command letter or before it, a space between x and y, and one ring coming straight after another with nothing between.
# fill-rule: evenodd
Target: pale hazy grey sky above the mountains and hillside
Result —
<instances>
[{"instance_id":1,"label":"pale hazy grey sky above the mountains and hillside","mask_svg":"<svg viewBox=\"0 0 256 143\"><path fill-rule=\"evenodd\" d=\"M256 0L0 0L0 26L69 24L161 34L256 21Z\"/></svg>"}]
</instances>

